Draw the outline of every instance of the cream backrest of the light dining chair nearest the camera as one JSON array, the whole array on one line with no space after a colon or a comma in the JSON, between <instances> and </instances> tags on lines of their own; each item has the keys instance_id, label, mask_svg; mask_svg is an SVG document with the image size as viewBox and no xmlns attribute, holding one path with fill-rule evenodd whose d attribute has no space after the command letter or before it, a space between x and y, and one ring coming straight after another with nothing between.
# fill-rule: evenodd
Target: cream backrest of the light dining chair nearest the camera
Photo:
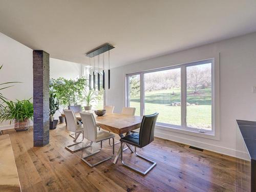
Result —
<instances>
[{"instance_id":1,"label":"cream backrest of the light dining chair nearest the camera","mask_svg":"<svg viewBox=\"0 0 256 192\"><path fill-rule=\"evenodd\" d=\"M83 122L83 137L90 141L95 141L97 138L97 126L93 114L80 112L80 116Z\"/></svg>"}]
</instances>

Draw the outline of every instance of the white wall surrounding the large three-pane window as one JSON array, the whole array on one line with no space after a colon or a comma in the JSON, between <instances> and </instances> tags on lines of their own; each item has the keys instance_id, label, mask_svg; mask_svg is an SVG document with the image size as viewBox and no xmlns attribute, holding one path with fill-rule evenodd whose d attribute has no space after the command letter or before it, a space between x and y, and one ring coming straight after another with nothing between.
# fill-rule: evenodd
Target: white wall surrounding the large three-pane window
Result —
<instances>
[{"instance_id":1,"label":"white wall surrounding the large three-pane window","mask_svg":"<svg viewBox=\"0 0 256 192\"><path fill-rule=\"evenodd\" d=\"M156 136L194 145L210 151L236 153L236 119L256 120L256 33L231 38L189 50L160 56L112 69L111 90L106 90L106 105L120 113L125 105L125 74L212 58L220 53L220 140L161 130ZM239 150L240 151L240 150ZM239 155L240 154L240 155Z\"/></svg>"}]
</instances>

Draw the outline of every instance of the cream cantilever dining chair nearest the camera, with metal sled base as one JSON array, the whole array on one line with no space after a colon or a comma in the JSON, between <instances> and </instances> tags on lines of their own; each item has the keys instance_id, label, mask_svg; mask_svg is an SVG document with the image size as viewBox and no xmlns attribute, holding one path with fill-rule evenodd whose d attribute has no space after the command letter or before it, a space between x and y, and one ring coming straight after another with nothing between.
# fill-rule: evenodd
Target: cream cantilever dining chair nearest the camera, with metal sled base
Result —
<instances>
[{"instance_id":1,"label":"cream cantilever dining chair nearest the camera, with metal sled base","mask_svg":"<svg viewBox=\"0 0 256 192\"><path fill-rule=\"evenodd\" d=\"M84 127L83 127L83 137L86 138L87 140L91 141L91 144L93 142L100 142L100 148L98 151L93 152L89 155L87 155L86 157L81 157L81 159L86 162L90 167L94 167L100 163L103 163L105 161L110 160L114 154L115 154L115 145L113 145L113 152L112 155L110 157L107 157L97 163L91 164L89 163L86 159L92 155L95 155L96 153L100 152L101 150L104 150L104 148L102 148L102 141L107 140L107 139L113 139L113 143L114 143L114 137L115 135L109 132L105 132L105 131L97 131L97 126L96 126L96 121L95 118L93 116L92 113L84 113L84 112L80 112L80 116L81 119L83 121ZM92 146L91 146L92 147ZM106 149L108 150L108 149Z\"/></svg>"}]
</instances>

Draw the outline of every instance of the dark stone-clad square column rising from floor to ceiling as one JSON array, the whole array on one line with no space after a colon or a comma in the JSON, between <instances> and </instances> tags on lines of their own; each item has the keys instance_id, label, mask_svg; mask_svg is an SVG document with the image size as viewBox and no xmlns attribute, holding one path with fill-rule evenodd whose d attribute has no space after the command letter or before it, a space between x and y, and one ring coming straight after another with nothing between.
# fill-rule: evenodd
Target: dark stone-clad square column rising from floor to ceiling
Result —
<instances>
[{"instance_id":1,"label":"dark stone-clad square column rising from floor to ceiling","mask_svg":"<svg viewBox=\"0 0 256 192\"><path fill-rule=\"evenodd\" d=\"M49 53L33 51L34 146L49 143Z\"/></svg>"}]
</instances>

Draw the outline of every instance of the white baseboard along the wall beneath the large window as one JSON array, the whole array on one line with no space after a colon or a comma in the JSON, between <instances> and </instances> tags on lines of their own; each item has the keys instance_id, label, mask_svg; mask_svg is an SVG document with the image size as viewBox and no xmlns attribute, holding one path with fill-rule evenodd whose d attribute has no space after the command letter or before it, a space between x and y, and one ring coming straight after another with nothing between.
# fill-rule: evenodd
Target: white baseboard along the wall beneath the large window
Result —
<instances>
[{"instance_id":1,"label":"white baseboard along the wall beneath the large window","mask_svg":"<svg viewBox=\"0 0 256 192\"><path fill-rule=\"evenodd\" d=\"M217 145L211 145L211 144L200 142L200 141L195 141L195 140L190 140L190 139L186 139L186 138L182 138L182 137L178 137L178 136L168 135L168 134L165 134L165 133L161 133L161 130L158 130L158 129L155 129L155 137L175 141L175 142L178 142L178 143L183 143L183 144L186 144L186 145L195 146L195 147L198 147L198 148L202 148L204 150L220 153L220 154L223 154L223 155L228 155L228 156L231 156L231 157L237 157L237 158L240 158L240 159L249 160L249 159L245 158L248 155L245 154L242 151L236 151L236 150L233 150L232 148L226 148L226 147L221 147L221 146L217 146Z\"/></svg>"}]
</instances>

